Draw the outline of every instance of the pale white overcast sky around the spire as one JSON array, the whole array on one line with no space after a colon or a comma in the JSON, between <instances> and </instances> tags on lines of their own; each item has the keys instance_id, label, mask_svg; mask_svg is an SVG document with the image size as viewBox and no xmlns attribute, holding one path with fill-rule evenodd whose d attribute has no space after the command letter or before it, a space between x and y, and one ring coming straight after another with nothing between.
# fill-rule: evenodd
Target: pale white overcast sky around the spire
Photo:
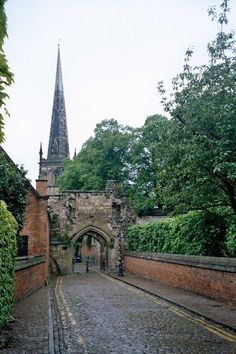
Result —
<instances>
[{"instance_id":1,"label":"pale white overcast sky around the spire","mask_svg":"<svg viewBox=\"0 0 236 354\"><path fill-rule=\"evenodd\" d=\"M222 0L8 0L5 43L15 84L9 90L3 147L38 177L39 144L47 154L57 42L61 59L70 153L115 118L141 126L163 113L157 82L181 72L186 49L193 63L207 61L206 44L217 26L207 9ZM230 3L236 27L236 2Z\"/></svg>"}]
</instances>

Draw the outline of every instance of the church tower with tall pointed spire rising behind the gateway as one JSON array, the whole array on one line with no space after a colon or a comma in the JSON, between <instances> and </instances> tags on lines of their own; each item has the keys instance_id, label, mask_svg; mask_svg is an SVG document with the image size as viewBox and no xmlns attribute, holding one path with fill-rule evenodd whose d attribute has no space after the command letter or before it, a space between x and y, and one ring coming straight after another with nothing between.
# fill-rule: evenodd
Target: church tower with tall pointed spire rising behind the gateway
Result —
<instances>
[{"instance_id":1,"label":"church tower with tall pointed spire rising behind the gateway","mask_svg":"<svg viewBox=\"0 0 236 354\"><path fill-rule=\"evenodd\" d=\"M61 71L61 55L60 46L58 45L56 82L47 158L43 158L41 144L39 151L39 179L48 180L48 195L59 194L57 177L62 172L62 160L67 157L69 158L69 156L66 109Z\"/></svg>"}]
</instances>

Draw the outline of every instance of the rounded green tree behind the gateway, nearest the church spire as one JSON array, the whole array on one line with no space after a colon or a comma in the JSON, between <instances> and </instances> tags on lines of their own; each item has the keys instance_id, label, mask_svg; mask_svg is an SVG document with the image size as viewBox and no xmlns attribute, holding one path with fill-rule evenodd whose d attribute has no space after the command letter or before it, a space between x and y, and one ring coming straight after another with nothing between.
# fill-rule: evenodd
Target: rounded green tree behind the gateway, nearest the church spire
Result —
<instances>
[{"instance_id":1,"label":"rounded green tree behind the gateway, nearest the church spire","mask_svg":"<svg viewBox=\"0 0 236 354\"><path fill-rule=\"evenodd\" d=\"M88 139L72 161L65 160L59 177L62 190L104 189L107 180L124 180L125 156L131 129L114 119L96 125L95 136Z\"/></svg>"}]
</instances>

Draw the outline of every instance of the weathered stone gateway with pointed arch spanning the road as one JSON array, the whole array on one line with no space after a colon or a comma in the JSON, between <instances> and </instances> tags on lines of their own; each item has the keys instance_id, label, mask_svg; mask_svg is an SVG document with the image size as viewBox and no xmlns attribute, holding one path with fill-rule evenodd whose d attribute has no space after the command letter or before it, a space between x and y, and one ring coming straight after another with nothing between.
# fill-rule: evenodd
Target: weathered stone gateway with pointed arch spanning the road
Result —
<instances>
[{"instance_id":1,"label":"weathered stone gateway with pointed arch spanning the road","mask_svg":"<svg viewBox=\"0 0 236 354\"><path fill-rule=\"evenodd\" d=\"M115 268L124 250L123 230L135 223L127 200L109 181L106 191L66 191L49 197L50 261L54 272L72 272L76 243L90 236L99 243L100 268ZM52 223L54 219L54 224Z\"/></svg>"}]
</instances>

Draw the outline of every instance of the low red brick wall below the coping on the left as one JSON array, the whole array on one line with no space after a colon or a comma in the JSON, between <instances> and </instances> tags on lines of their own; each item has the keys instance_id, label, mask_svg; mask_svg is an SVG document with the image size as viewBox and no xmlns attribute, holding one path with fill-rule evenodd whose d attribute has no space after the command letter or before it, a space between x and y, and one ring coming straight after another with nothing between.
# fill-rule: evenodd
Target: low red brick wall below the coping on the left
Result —
<instances>
[{"instance_id":1,"label":"low red brick wall below the coping on the left","mask_svg":"<svg viewBox=\"0 0 236 354\"><path fill-rule=\"evenodd\" d=\"M33 293L44 286L45 281L45 263L16 271L14 299L17 301Z\"/></svg>"}]
</instances>

